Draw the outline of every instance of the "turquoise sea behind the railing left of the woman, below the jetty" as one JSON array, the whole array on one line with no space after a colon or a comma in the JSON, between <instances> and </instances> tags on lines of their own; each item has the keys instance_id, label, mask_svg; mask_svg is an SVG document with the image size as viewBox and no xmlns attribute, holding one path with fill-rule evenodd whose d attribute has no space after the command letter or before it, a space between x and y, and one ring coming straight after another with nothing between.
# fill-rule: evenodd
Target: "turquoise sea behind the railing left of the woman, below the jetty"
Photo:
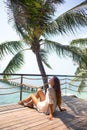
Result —
<instances>
[{"instance_id":1,"label":"turquoise sea behind the railing left of the woman, below the jetty","mask_svg":"<svg viewBox=\"0 0 87 130\"><path fill-rule=\"evenodd\" d=\"M20 100L20 88L7 83L0 82L0 105L14 104ZM2 89L3 88L3 89ZM6 89L7 88L7 89ZM17 92L17 93L14 93ZM13 94L11 94L13 93ZM22 93L22 98L29 96L29 94L34 93L31 90Z\"/></svg>"}]
</instances>

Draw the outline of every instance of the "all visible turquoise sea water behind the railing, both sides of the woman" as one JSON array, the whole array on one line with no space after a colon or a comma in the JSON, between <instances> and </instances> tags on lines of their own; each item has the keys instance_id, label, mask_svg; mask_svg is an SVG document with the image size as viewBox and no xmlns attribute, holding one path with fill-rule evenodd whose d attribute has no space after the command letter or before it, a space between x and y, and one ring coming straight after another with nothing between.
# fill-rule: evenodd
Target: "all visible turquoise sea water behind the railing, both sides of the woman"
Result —
<instances>
[{"instance_id":1,"label":"all visible turquoise sea water behind the railing, both sides of the woman","mask_svg":"<svg viewBox=\"0 0 87 130\"><path fill-rule=\"evenodd\" d=\"M26 82L26 84L42 86L42 81L40 81L40 80L39 81L36 81L36 80L33 80L33 81L25 80L24 82ZM62 89L62 88L69 88L69 89L74 90L74 91L71 91L69 89ZM87 87L84 89L84 91L86 91L86 92L78 93L78 92L76 92L77 91L77 87L74 87L74 86L73 87L69 87L68 85L65 84L65 85L61 85L61 90L62 90L62 94L63 95L76 95L79 98L87 100L87 94L86 94L87 93ZM24 89L24 91L25 91L25 89ZM17 92L17 93L14 93L14 92ZM11 94L11 93L14 93L14 94ZM35 90L31 91L31 89L30 90L27 89L26 92L22 93L22 99L26 98L31 93L35 93ZM5 82L0 82L0 105L15 104L19 100L20 100L20 87L12 86L12 85L7 84Z\"/></svg>"}]
</instances>

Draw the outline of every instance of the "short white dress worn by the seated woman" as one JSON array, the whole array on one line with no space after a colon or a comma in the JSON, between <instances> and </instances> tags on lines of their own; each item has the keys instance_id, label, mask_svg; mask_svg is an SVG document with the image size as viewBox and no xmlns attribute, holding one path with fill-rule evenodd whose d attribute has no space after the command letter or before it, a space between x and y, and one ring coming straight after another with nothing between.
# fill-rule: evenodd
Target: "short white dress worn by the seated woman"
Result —
<instances>
[{"instance_id":1,"label":"short white dress worn by the seated woman","mask_svg":"<svg viewBox=\"0 0 87 130\"><path fill-rule=\"evenodd\" d=\"M40 101L37 104L37 110L45 114L49 114L49 104L53 104L53 112L56 110L56 93L54 88L48 88L46 93L46 99Z\"/></svg>"}]
</instances>

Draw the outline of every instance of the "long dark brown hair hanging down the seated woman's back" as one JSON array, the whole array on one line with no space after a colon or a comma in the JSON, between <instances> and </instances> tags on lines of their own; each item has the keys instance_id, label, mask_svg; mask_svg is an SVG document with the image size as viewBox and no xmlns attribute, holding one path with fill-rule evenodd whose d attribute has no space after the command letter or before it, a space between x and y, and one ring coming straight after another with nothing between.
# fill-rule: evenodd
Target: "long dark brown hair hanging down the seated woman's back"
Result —
<instances>
[{"instance_id":1,"label":"long dark brown hair hanging down the seated woman's back","mask_svg":"<svg viewBox=\"0 0 87 130\"><path fill-rule=\"evenodd\" d=\"M58 105L58 107L60 107L61 106L61 102L62 102L60 80L56 76L54 76L53 79L54 79L54 86L53 86L53 88L55 89L55 92L56 92L57 105Z\"/></svg>"}]
</instances>

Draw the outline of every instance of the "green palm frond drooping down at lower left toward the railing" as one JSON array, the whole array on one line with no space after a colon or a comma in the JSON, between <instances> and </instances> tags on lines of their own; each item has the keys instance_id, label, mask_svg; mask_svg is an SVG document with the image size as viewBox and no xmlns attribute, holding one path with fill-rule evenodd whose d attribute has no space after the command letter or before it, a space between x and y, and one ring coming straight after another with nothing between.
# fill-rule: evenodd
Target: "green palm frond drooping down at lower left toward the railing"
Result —
<instances>
[{"instance_id":1,"label":"green palm frond drooping down at lower left toward the railing","mask_svg":"<svg viewBox=\"0 0 87 130\"><path fill-rule=\"evenodd\" d=\"M23 52L18 52L12 60L9 62L5 70L3 71L3 74L12 74L15 73L24 63L24 56ZM5 75L5 77L8 77L8 75Z\"/></svg>"}]
</instances>

